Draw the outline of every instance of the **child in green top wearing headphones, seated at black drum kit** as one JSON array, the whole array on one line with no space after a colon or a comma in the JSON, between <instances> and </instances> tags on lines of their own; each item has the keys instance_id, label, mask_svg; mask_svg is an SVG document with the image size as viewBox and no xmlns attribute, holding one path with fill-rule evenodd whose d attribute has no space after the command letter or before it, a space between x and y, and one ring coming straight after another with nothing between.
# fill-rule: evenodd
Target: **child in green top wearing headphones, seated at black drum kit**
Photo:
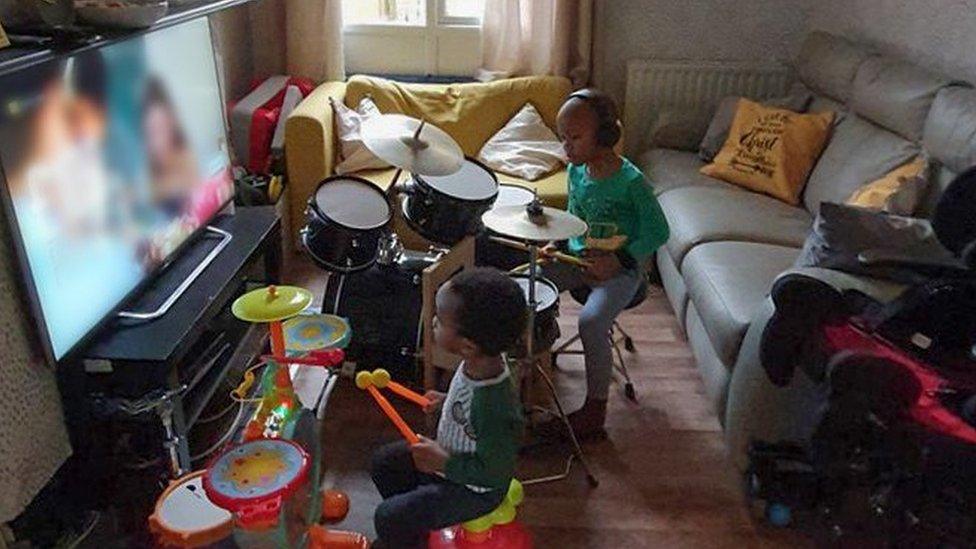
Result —
<instances>
[{"instance_id":1,"label":"child in green top wearing headphones, seated at black drum kit","mask_svg":"<svg viewBox=\"0 0 976 549\"><path fill-rule=\"evenodd\" d=\"M620 125L613 100L593 89L570 94L557 118L569 160L569 212L586 221L586 236L568 242L585 269L553 263L545 274L560 290L590 288L579 317L586 362L586 401L570 414L577 436L603 436L613 373L607 334L644 282L644 266L669 236L668 222L647 178L614 151ZM551 252L552 245L544 252Z\"/></svg>"}]
</instances>

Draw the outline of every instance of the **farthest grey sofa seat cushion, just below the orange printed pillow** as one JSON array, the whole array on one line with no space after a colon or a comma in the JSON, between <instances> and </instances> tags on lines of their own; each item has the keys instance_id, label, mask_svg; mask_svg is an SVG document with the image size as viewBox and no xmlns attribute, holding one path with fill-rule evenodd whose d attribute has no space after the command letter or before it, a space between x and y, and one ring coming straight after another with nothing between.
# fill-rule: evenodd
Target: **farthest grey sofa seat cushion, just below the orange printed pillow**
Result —
<instances>
[{"instance_id":1,"label":"farthest grey sofa seat cushion, just below the orange printed pillow","mask_svg":"<svg viewBox=\"0 0 976 549\"><path fill-rule=\"evenodd\" d=\"M729 240L799 248L813 223L803 208L738 188L675 189L658 202L671 226L668 252L682 273L685 254L699 244Z\"/></svg>"}]
</instances>

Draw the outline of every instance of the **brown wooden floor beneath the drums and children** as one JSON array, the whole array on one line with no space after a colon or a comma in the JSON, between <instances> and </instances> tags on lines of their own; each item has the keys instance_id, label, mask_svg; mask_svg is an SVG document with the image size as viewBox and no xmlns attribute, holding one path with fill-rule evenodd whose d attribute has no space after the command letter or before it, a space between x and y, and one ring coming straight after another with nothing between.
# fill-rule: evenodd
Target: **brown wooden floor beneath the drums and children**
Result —
<instances>
[{"instance_id":1,"label":"brown wooden floor beneath the drums and children","mask_svg":"<svg viewBox=\"0 0 976 549\"><path fill-rule=\"evenodd\" d=\"M324 276L305 264L288 278L321 296ZM576 332L579 307L568 296L560 327ZM751 518L737 475L725 459L722 432L704 394L688 343L666 297L653 292L620 322L634 338L626 355L638 393L634 404L623 387L611 389L609 440L584 447L598 488L590 489L578 466L569 479L529 487L519 509L540 548L629 549L638 547L803 547L808 541ZM569 409L583 399L582 357L564 356L557 374ZM408 412L406 406L399 406ZM418 429L418 414L405 414ZM379 502L368 475L370 454L396 432L375 405L343 380L328 407L324 484L346 491L352 508L338 525L373 535ZM533 450L520 459L519 477L553 474L565 465L560 447Z\"/></svg>"}]
</instances>

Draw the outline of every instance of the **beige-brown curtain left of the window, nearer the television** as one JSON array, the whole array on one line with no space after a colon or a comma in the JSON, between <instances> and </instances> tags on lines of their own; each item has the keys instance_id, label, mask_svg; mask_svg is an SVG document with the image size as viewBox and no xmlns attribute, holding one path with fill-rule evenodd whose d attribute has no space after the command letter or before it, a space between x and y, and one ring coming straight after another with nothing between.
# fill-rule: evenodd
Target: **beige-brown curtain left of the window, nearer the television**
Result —
<instances>
[{"instance_id":1,"label":"beige-brown curtain left of the window, nearer the television","mask_svg":"<svg viewBox=\"0 0 976 549\"><path fill-rule=\"evenodd\" d=\"M256 76L345 80L342 0L265 0L251 9Z\"/></svg>"}]
</instances>

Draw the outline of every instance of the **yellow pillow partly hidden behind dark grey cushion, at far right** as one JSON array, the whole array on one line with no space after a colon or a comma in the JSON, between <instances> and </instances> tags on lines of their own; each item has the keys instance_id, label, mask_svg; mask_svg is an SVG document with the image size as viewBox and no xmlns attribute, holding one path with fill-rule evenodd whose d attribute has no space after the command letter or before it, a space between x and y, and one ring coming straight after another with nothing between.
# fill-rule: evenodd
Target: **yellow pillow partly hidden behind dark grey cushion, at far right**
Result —
<instances>
[{"instance_id":1,"label":"yellow pillow partly hidden behind dark grey cushion, at far right","mask_svg":"<svg viewBox=\"0 0 976 549\"><path fill-rule=\"evenodd\" d=\"M854 191L849 206L860 206L895 215L912 215L928 187L928 162L918 157Z\"/></svg>"}]
</instances>

